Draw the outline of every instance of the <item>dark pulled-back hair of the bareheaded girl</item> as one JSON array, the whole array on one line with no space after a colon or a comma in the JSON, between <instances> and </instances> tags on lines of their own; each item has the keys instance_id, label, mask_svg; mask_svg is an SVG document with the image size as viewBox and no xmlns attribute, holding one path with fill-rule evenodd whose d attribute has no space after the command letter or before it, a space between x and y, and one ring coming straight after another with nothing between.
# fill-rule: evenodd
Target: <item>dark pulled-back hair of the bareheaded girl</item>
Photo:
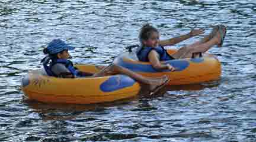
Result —
<instances>
[{"instance_id":1,"label":"dark pulled-back hair of the bareheaded girl","mask_svg":"<svg viewBox=\"0 0 256 142\"><path fill-rule=\"evenodd\" d=\"M143 46L142 41L148 40L153 32L158 32L158 30L150 24L143 25L139 33L139 41L140 41L140 44L142 44L142 46Z\"/></svg>"}]
</instances>

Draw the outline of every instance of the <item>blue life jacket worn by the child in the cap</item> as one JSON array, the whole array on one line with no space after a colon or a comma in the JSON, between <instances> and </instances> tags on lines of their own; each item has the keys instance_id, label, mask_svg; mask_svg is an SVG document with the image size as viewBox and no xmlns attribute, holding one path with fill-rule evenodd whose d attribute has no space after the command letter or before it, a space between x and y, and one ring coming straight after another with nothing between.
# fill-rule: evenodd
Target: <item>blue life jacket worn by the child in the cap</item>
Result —
<instances>
[{"instance_id":1,"label":"blue life jacket worn by the child in the cap","mask_svg":"<svg viewBox=\"0 0 256 142\"><path fill-rule=\"evenodd\" d=\"M57 77L57 75L52 71L52 67L55 64L64 64L66 68L71 72L72 75L79 76L79 71L73 67L73 63L71 61L65 60L65 59L57 59L57 60L51 60L50 58L47 58L46 60L43 61L43 67L44 70L46 71L47 75L52 76L52 77Z\"/></svg>"}]
</instances>

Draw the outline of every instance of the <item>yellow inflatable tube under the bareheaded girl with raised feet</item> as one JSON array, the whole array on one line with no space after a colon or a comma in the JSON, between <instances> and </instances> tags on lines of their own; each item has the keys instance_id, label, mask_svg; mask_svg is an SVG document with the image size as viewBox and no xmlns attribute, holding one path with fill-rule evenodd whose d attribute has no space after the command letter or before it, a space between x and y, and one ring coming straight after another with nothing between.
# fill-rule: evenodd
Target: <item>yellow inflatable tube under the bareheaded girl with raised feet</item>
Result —
<instances>
[{"instance_id":1,"label":"yellow inflatable tube under the bareheaded girl with raised feet","mask_svg":"<svg viewBox=\"0 0 256 142\"><path fill-rule=\"evenodd\" d=\"M167 50L169 54L175 50ZM136 53L124 52L114 59L114 64L128 68L146 77L159 77L168 75L168 85L194 84L205 81L219 80L221 75L221 65L219 60L213 55L204 54L203 57L186 58L181 60L171 60L162 64L171 64L176 71L156 71L149 62L137 60Z\"/></svg>"}]
</instances>

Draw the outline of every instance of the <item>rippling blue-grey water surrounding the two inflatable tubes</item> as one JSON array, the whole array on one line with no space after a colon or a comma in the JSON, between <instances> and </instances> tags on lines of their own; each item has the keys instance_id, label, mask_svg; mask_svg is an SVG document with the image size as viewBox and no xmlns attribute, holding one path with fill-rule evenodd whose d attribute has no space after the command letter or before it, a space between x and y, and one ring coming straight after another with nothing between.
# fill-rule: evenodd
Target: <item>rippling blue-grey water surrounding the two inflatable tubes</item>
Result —
<instances>
[{"instance_id":1,"label":"rippling blue-grey water surrounding the two inflatable tubes","mask_svg":"<svg viewBox=\"0 0 256 142\"><path fill-rule=\"evenodd\" d=\"M0 141L256 141L255 7L252 0L0 2ZM209 51L222 62L221 79L107 104L23 101L21 78L40 68L53 38L76 47L73 62L107 65L137 43L147 22L162 39L227 25L223 48Z\"/></svg>"}]
</instances>

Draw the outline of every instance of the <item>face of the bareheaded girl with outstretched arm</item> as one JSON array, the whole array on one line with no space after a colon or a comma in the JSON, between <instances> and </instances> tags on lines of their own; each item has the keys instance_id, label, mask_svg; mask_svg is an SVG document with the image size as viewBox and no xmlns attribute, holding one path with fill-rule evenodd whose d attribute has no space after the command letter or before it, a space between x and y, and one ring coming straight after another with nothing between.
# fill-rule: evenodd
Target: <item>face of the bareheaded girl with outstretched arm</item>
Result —
<instances>
[{"instance_id":1,"label":"face of the bareheaded girl with outstretched arm","mask_svg":"<svg viewBox=\"0 0 256 142\"><path fill-rule=\"evenodd\" d=\"M152 32L147 40L143 40L143 44L146 47L158 47L159 46L159 33Z\"/></svg>"}]
</instances>

